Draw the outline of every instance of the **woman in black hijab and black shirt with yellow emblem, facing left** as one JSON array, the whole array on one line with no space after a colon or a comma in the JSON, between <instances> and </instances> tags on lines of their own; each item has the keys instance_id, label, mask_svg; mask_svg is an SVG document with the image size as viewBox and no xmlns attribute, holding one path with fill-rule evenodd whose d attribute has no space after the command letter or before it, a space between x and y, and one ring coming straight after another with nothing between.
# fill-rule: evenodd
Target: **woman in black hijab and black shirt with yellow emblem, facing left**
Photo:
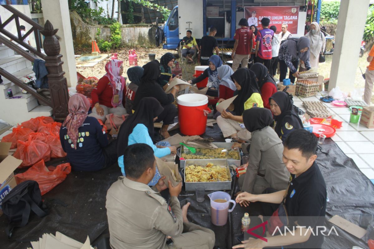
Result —
<instances>
[{"instance_id":1,"label":"woman in black hijab and black shirt with yellow emblem, facing left","mask_svg":"<svg viewBox=\"0 0 374 249\"><path fill-rule=\"evenodd\" d=\"M303 129L303 122L296 114L287 93L278 91L270 97L269 102L270 110L274 115L274 130L284 144L289 133Z\"/></svg>"}]
</instances>

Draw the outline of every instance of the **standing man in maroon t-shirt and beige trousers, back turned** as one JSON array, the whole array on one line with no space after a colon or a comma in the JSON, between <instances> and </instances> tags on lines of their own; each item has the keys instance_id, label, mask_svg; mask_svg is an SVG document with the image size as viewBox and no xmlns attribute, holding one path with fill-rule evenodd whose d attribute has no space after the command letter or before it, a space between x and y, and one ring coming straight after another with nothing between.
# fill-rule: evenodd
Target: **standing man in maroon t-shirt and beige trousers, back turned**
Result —
<instances>
[{"instance_id":1,"label":"standing man in maroon t-shirt and beige trousers, back turned","mask_svg":"<svg viewBox=\"0 0 374 249\"><path fill-rule=\"evenodd\" d=\"M232 69L235 72L242 63L242 68L248 68L248 60L252 51L253 32L248 28L248 21L245 18L240 19L241 28L236 29L234 39L234 49L231 57L233 58Z\"/></svg>"}]
</instances>

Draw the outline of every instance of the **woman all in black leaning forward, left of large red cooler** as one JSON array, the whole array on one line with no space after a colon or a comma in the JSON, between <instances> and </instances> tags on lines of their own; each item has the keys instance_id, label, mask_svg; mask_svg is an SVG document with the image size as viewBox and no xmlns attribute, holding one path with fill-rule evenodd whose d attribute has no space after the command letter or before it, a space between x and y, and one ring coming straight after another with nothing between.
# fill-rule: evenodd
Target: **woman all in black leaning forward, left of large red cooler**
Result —
<instances>
[{"instance_id":1,"label":"woman all in black leaning forward, left of large red cooler","mask_svg":"<svg viewBox=\"0 0 374 249\"><path fill-rule=\"evenodd\" d=\"M160 115L158 115L158 119L155 122L163 121L161 135L168 138L170 137L168 127L170 124L174 124L174 118L177 116L177 108L173 102L175 93L179 90L179 86L176 85L173 87L171 93L165 93L161 85L157 82L157 79L160 76L160 63L157 60L148 62L143 66L143 68L144 72L135 96L133 109L136 111L140 100L145 97L154 97L157 99L164 110Z\"/></svg>"}]
</instances>

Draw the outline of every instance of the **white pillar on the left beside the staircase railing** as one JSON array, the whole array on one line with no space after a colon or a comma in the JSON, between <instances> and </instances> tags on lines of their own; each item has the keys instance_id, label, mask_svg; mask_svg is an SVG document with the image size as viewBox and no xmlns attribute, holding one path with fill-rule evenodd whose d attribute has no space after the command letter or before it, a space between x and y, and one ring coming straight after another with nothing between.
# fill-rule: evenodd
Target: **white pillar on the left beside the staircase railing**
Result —
<instances>
[{"instance_id":1,"label":"white pillar on the left beside the staircase railing","mask_svg":"<svg viewBox=\"0 0 374 249\"><path fill-rule=\"evenodd\" d=\"M77 69L74 58L73 36L71 35L70 13L67 0L42 0L44 21L49 20L58 28L62 55L62 70L65 71L68 87L77 85Z\"/></svg>"}]
</instances>

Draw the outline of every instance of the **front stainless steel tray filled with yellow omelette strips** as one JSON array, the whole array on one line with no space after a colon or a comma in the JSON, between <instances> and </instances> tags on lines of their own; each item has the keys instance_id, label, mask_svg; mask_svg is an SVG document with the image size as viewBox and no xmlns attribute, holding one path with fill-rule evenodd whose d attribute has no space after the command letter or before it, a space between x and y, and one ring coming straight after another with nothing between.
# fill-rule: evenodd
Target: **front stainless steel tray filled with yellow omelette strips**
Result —
<instances>
[{"instance_id":1,"label":"front stainless steel tray filled with yellow omelette strips","mask_svg":"<svg viewBox=\"0 0 374 249\"><path fill-rule=\"evenodd\" d=\"M187 159L186 165L200 165L205 166L208 163L226 167L227 176L230 181L212 181L202 183L186 183L186 172L184 172L184 186L186 191L195 191L196 187L205 187L205 190L230 190L231 189L231 174L227 159Z\"/></svg>"}]
</instances>

